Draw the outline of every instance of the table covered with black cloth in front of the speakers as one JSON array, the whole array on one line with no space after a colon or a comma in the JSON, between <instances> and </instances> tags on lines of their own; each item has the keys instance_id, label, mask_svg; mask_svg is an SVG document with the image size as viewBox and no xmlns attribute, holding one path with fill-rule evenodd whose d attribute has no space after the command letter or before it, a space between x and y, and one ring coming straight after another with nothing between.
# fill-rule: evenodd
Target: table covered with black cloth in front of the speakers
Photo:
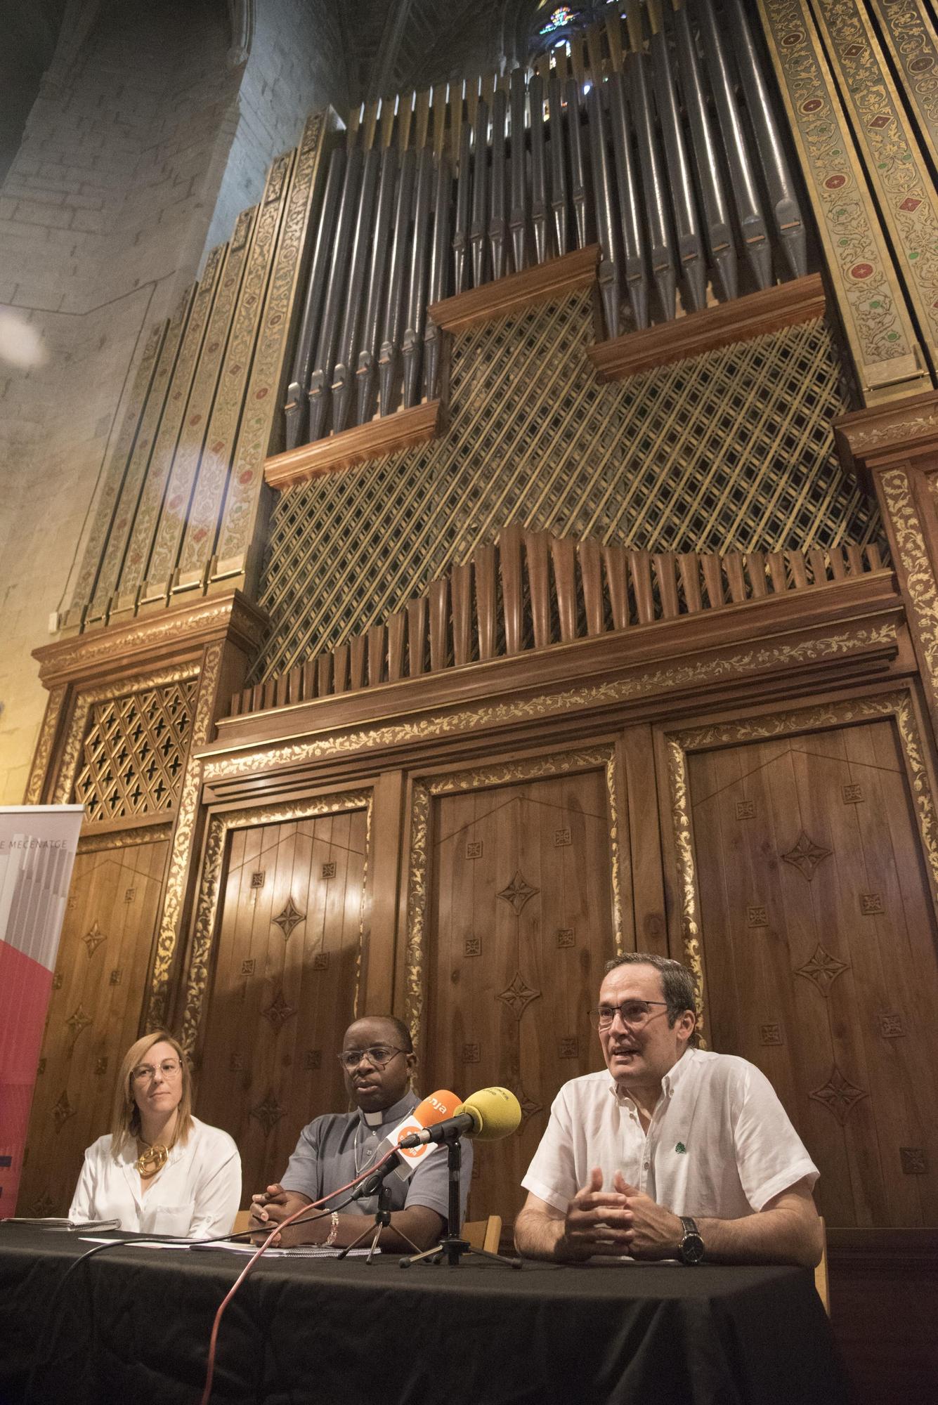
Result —
<instances>
[{"instance_id":1,"label":"table covered with black cloth in front of the speakers","mask_svg":"<svg viewBox=\"0 0 938 1405\"><path fill-rule=\"evenodd\" d=\"M246 1259L0 1224L1 1405L198 1405ZM55 1297L53 1297L55 1294ZM272 1259L219 1333L213 1405L840 1405L809 1270L396 1255Z\"/></svg>"}]
</instances>

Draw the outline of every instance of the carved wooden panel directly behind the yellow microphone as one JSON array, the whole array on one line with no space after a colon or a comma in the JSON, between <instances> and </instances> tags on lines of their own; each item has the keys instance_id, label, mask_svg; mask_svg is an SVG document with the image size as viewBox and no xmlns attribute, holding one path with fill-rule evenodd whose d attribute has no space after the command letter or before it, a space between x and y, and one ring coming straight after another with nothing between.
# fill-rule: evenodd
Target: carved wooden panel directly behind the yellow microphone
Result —
<instances>
[{"instance_id":1,"label":"carved wooden panel directly behind the yellow microphone","mask_svg":"<svg viewBox=\"0 0 938 1405\"><path fill-rule=\"evenodd\" d=\"M434 802L425 1076L461 1096L500 1083L524 1111L514 1137L476 1142L473 1218L514 1220L557 1089L602 1066L588 1012L614 955L607 794L587 771Z\"/></svg>"}]
</instances>

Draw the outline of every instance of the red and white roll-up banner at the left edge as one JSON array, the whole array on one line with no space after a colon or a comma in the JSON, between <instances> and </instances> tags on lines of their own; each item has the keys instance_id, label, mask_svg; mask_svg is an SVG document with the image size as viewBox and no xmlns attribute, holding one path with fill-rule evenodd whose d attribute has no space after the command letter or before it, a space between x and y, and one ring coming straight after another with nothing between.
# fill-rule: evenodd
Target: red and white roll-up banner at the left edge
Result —
<instances>
[{"instance_id":1,"label":"red and white roll-up banner at the left edge","mask_svg":"<svg viewBox=\"0 0 938 1405\"><path fill-rule=\"evenodd\" d=\"M81 805L0 806L0 1220L17 1207Z\"/></svg>"}]
</instances>

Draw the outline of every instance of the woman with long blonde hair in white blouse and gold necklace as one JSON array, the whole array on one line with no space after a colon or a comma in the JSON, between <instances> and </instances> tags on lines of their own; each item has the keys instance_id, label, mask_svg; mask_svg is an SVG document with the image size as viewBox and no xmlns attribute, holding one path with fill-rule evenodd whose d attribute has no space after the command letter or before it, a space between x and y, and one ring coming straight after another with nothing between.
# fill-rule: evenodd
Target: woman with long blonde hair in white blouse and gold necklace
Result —
<instances>
[{"instance_id":1,"label":"woman with long blonde hair in white blouse and gold necklace","mask_svg":"<svg viewBox=\"0 0 938 1405\"><path fill-rule=\"evenodd\" d=\"M191 1109L181 1047L164 1030L145 1034L124 1057L111 1132L84 1154L69 1220L185 1239L230 1234L242 1159L227 1132Z\"/></svg>"}]
</instances>

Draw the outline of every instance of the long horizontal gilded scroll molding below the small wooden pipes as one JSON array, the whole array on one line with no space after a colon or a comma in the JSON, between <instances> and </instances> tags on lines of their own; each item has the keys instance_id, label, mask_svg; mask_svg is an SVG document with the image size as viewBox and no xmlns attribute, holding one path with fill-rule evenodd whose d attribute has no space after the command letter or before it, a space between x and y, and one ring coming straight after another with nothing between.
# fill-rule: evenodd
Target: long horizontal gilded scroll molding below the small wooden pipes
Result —
<instances>
[{"instance_id":1,"label":"long horizontal gilded scroll molding below the small wooden pipes","mask_svg":"<svg viewBox=\"0 0 938 1405\"><path fill-rule=\"evenodd\" d=\"M625 679L567 688L562 693L517 698L511 702L486 704L452 712L434 712L413 722L388 726L358 728L344 735L330 735L310 742L291 742L258 752L244 752L220 760L205 760L208 783L253 776L279 766L302 766L378 747L427 742L441 736L462 735L483 728L504 726L508 722L542 717L556 717L584 708L597 708L633 698L649 697L675 688L704 687L722 679L744 677L765 669L798 667L820 659L847 658L866 649L885 648L896 642L896 624L872 628L845 628L823 638L802 639L799 643L779 643L750 648L727 658L698 659L694 663L645 669Z\"/></svg>"}]
</instances>

